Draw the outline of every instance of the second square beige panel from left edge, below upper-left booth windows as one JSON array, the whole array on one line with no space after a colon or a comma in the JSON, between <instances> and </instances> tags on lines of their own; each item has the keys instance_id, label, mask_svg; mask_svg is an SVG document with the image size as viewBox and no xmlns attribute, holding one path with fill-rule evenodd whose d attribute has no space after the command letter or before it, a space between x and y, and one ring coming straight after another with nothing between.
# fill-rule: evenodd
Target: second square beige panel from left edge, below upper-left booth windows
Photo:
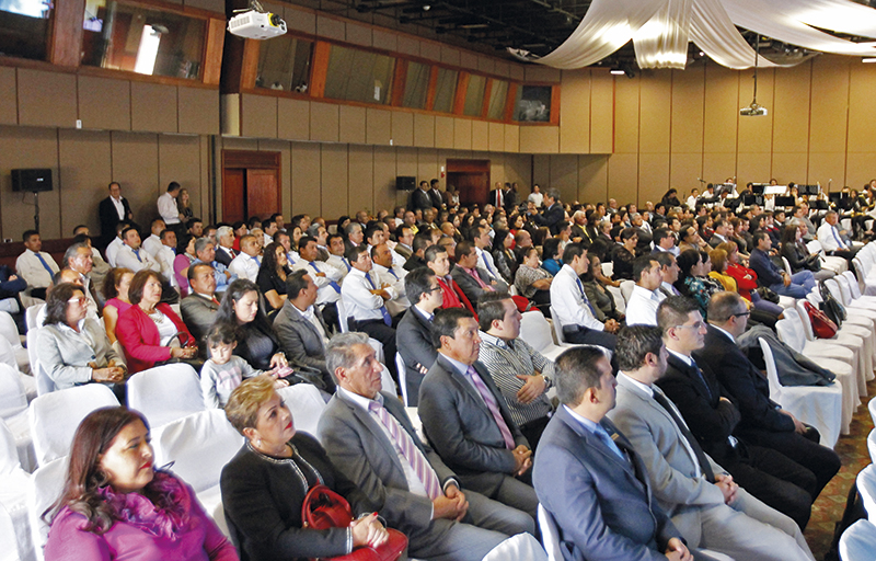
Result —
<instances>
[{"instance_id":1,"label":"second square beige panel from left edge, below upper-left booth windows","mask_svg":"<svg viewBox=\"0 0 876 561\"><path fill-rule=\"evenodd\" d=\"M76 127L76 76L19 68L19 124Z\"/></svg>"}]
</instances>

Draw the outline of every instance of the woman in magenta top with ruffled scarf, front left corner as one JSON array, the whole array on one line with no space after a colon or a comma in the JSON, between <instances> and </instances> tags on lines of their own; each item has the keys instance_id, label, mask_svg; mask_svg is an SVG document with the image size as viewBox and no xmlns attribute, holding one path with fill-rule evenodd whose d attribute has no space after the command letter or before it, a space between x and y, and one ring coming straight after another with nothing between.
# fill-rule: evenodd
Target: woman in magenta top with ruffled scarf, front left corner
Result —
<instances>
[{"instance_id":1,"label":"woman in magenta top with ruffled scarf, front left corner","mask_svg":"<svg viewBox=\"0 0 876 561\"><path fill-rule=\"evenodd\" d=\"M153 468L153 456L140 413L119 407L85 416L49 515L46 559L237 561L192 488Z\"/></svg>"}]
</instances>

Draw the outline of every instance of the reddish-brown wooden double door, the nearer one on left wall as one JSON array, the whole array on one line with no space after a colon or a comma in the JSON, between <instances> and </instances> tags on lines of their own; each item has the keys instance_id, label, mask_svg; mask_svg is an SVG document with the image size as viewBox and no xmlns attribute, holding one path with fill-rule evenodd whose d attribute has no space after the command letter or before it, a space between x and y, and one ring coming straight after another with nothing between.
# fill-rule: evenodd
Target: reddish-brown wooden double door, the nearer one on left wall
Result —
<instances>
[{"instance_id":1,"label":"reddish-brown wooden double door, the nearer one on left wall","mask_svg":"<svg viewBox=\"0 0 876 561\"><path fill-rule=\"evenodd\" d=\"M222 150L222 221L280 211L280 152Z\"/></svg>"}]
</instances>

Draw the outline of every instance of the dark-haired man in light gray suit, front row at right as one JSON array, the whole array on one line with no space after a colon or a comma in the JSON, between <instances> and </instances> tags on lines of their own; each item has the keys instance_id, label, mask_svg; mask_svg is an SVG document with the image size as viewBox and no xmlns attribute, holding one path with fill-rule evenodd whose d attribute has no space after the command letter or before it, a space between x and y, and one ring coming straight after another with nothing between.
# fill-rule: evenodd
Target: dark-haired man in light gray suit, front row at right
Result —
<instances>
[{"instance_id":1,"label":"dark-haired man in light gray suit, front row at right","mask_svg":"<svg viewBox=\"0 0 876 561\"><path fill-rule=\"evenodd\" d=\"M621 371L616 408L609 417L642 456L655 499L688 545L735 559L812 560L794 520L740 489L703 451L681 413L655 385L667 366L662 330L624 328L615 353Z\"/></svg>"}]
</instances>

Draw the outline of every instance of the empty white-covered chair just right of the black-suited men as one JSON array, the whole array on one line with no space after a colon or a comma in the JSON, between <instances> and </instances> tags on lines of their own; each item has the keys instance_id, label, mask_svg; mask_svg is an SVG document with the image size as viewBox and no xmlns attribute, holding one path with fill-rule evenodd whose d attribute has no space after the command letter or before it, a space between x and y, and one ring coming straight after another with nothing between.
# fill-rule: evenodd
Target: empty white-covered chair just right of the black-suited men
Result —
<instances>
[{"instance_id":1,"label":"empty white-covered chair just right of the black-suited men","mask_svg":"<svg viewBox=\"0 0 876 561\"><path fill-rule=\"evenodd\" d=\"M833 448L842 423L842 387L837 382L831 386L782 386L770 344L763 339L759 341L766 364L770 398L800 422L815 426L821 434L821 444Z\"/></svg>"}]
</instances>

